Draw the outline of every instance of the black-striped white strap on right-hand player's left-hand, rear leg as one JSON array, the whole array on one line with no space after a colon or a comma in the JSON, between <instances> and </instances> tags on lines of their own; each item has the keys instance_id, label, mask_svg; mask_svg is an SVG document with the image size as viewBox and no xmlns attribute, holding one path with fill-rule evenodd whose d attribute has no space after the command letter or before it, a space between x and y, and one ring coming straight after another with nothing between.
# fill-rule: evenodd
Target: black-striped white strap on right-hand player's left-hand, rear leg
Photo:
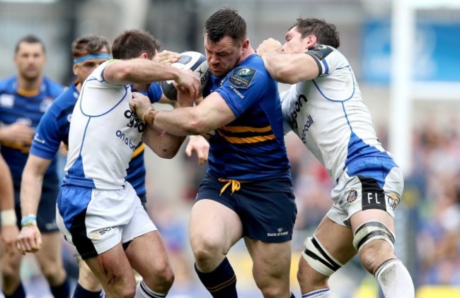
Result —
<instances>
[{"instance_id":1,"label":"black-striped white strap on right-hand player's left-hand, rear leg","mask_svg":"<svg viewBox=\"0 0 460 298\"><path fill-rule=\"evenodd\" d=\"M343 266L324 249L315 237L305 239L304 245L305 250L302 252L302 256L306 263L309 263L311 268L319 273L330 276Z\"/></svg>"}]
</instances>

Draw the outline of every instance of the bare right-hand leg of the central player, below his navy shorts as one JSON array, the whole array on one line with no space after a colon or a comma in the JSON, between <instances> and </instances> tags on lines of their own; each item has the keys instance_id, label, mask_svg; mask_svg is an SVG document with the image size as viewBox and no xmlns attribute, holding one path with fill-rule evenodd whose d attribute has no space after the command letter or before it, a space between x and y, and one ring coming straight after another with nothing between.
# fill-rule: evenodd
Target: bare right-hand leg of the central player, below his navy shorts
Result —
<instances>
[{"instance_id":1,"label":"bare right-hand leg of the central player, below his navy shorts","mask_svg":"<svg viewBox=\"0 0 460 298\"><path fill-rule=\"evenodd\" d=\"M258 287L289 287L291 242L267 243L244 238L253 259L253 276Z\"/></svg>"}]
</instances>

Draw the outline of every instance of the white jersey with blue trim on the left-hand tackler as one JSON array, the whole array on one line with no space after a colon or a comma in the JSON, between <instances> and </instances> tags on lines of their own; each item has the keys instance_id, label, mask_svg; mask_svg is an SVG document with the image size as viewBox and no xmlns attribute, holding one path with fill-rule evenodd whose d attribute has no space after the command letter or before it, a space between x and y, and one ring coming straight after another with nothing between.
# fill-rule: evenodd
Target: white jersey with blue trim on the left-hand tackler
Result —
<instances>
[{"instance_id":1,"label":"white jersey with blue trim on the left-hand tackler","mask_svg":"<svg viewBox=\"0 0 460 298\"><path fill-rule=\"evenodd\" d=\"M125 184L144 123L130 109L130 85L104 80L110 62L96 68L81 88L72 112L63 185L122 189Z\"/></svg>"}]
</instances>

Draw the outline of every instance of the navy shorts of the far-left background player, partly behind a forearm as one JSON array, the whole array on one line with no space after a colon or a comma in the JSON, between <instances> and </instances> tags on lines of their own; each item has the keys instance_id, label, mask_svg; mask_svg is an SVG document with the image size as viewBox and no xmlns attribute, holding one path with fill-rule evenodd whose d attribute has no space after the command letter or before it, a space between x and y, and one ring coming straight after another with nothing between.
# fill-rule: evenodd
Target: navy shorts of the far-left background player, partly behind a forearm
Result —
<instances>
[{"instance_id":1,"label":"navy shorts of the far-left background player, partly behind a forearm","mask_svg":"<svg viewBox=\"0 0 460 298\"><path fill-rule=\"evenodd\" d=\"M21 184L14 183L14 199L16 202L16 217L18 227L21 229L21 205L19 193ZM59 193L59 178L57 174L48 174L43 177L42 196L38 204L37 226L42 233L58 232L56 225L56 198Z\"/></svg>"}]
</instances>

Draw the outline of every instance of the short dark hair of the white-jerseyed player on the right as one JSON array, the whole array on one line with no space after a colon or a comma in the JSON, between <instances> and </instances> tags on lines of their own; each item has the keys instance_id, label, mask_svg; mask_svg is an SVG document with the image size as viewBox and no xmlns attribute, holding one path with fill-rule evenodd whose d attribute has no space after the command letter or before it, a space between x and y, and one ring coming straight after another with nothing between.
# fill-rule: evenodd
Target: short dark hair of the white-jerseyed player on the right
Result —
<instances>
[{"instance_id":1,"label":"short dark hair of the white-jerseyed player on the right","mask_svg":"<svg viewBox=\"0 0 460 298\"><path fill-rule=\"evenodd\" d=\"M318 44L325 44L338 49L340 47L340 37L334 24L327 23L326 20L319 18L298 18L297 22L289 30L297 27L301 37L315 35Z\"/></svg>"}]
</instances>

